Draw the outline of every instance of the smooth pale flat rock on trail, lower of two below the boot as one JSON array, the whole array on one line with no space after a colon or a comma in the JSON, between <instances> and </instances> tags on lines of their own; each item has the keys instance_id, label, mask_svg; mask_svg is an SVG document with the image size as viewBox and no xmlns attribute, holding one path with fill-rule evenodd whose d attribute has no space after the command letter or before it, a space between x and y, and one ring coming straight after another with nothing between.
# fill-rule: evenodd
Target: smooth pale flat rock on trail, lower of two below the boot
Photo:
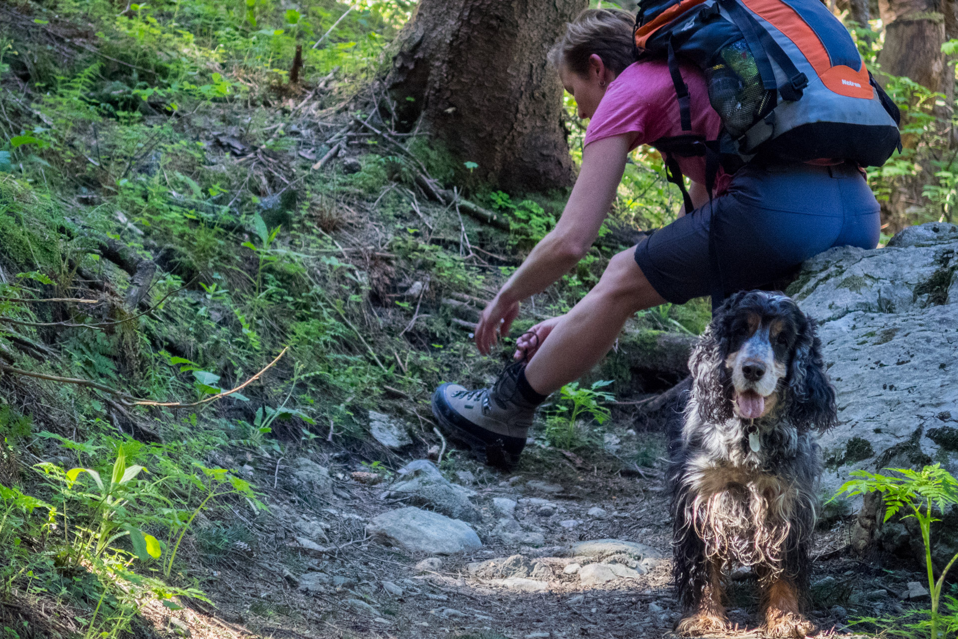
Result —
<instances>
[{"instance_id":1,"label":"smooth pale flat rock on trail, lower of two below the boot","mask_svg":"<svg viewBox=\"0 0 958 639\"><path fill-rule=\"evenodd\" d=\"M366 532L386 545L412 553L448 555L482 547L465 521L410 506L377 515Z\"/></svg>"}]
</instances>

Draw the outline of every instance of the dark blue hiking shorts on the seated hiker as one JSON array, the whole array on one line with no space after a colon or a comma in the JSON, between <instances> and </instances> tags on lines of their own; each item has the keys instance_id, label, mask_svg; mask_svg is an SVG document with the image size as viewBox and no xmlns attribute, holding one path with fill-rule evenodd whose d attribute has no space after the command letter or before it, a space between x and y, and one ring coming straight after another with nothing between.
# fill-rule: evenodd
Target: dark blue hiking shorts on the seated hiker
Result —
<instances>
[{"instance_id":1,"label":"dark blue hiking shorts on the seated hiker","mask_svg":"<svg viewBox=\"0 0 958 639\"><path fill-rule=\"evenodd\" d=\"M728 191L635 247L635 262L668 302L711 294L709 227L726 296L766 288L833 246L875 248L878 201L852 165L746 166Z\"/></svg>"}]
</instances>

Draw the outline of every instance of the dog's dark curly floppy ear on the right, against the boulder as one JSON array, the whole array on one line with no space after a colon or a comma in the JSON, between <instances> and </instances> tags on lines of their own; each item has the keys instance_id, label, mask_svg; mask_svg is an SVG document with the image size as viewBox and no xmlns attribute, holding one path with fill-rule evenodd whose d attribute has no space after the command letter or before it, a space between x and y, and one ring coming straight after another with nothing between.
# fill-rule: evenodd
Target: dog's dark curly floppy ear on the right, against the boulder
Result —
<instances>
[{"instance_id":1,"label":"dog's dark curly floppy ear on the right, against the boulder","mask_svg":"<svg viewBox=\"0 0 958 639\"><path fill-rule=\"evenodd\" d=\"M788 371L788 417L800 429L824 432L835 425L835 389L825 372L815 321L799 313L799 332Z\"/></svg>"}]
</instances>

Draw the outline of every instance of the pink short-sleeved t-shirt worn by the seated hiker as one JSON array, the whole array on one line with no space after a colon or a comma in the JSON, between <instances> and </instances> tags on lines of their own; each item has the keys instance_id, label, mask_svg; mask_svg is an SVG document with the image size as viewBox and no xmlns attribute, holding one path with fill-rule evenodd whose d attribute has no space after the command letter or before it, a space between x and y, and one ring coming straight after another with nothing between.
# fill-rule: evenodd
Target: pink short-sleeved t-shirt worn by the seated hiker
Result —
<instances>
[{"instance_id":1,"label":"pink short-sleeved t-shirt worn by the seated hiker","mask_svg":"<svg viewBox=\"0 0 958 639\"><path fill-rule=\"evenodd\" d=\"M692 131L706 140L719 137L721 120L709 103L705 77L696 67L683 64L682 79L689 87ZM665 60L646 60L629 65L605 90L602 102L585 129L585 145L616 135L632 134L629 150L659 138L688 135L678 113L675 85ZM705 157L676 157L689 179L705 184ZM724 176L722 176L724 177ZM719 179L717 186L727 182ZM716 191L721 189L717 188Z\"/></svg>"}]
</instances>

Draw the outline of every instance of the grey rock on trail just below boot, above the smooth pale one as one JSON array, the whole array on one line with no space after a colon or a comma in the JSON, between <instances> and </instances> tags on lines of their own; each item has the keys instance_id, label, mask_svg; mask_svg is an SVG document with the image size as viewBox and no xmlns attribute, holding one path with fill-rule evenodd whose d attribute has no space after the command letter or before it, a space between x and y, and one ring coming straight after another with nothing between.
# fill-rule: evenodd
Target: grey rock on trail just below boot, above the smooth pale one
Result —
<instances>
[{"instance_id":1,"label":"grey rock on trail just below boot, above the smooth pale one","mask_svg":"<svg viewBox=\"0 0 958 639\"><path fill-rule=\"evenodd\" d=\"M463 521L482 521L482 513L469 497L474 495L462 486L449 482L431 462L417 460L400 469L400 480L382 493L383 499L402 499L413 506L423 506Z\"/></svg>"}]
</instances>

